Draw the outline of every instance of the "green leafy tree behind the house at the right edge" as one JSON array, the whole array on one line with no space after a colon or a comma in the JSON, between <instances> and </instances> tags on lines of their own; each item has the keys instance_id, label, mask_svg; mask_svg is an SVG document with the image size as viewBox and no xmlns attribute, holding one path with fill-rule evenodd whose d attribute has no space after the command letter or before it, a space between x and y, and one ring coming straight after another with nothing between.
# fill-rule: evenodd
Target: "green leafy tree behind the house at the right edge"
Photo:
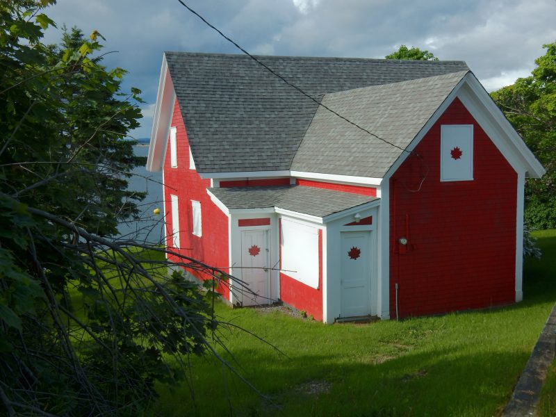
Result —
<instances>
[{"instance_id":1,"label":"green leafy tree behind the house at the right edge","mask_svg":"<svg viewBox=\"0 0 556 417\"><path fill-rule=\"evenodd\" d=\"M530 76L491 93L546 168L525 183L525 221L537 229L556 227L556 42L543 47Z\"/></svg>"}]
</instances>

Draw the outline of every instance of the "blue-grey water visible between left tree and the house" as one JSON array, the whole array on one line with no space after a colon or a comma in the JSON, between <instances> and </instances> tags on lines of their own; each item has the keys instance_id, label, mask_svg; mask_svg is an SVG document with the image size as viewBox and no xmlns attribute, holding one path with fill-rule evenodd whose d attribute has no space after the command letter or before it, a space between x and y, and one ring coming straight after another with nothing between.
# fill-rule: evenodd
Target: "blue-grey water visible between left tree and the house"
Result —
<instances>
[{"instance_id":1,"label":"blue-grey water visible between left tree and the house","mask_svg":"<svg viewBox=\"0 0 556 417\"><path fill-rule=\"evenodd\" d=\"M133 147L137 156L147 156L149 147L138 145ZM140 220L133 220L120 224L120 238L133 239L145 243L163 242L163 188L162 172L149 172L144 166L133 170L133 177L128 179L129 190L147 191L147 197L139 203ZM154 209L160 209L156 215Z\"/></svg>"}]
</instances>

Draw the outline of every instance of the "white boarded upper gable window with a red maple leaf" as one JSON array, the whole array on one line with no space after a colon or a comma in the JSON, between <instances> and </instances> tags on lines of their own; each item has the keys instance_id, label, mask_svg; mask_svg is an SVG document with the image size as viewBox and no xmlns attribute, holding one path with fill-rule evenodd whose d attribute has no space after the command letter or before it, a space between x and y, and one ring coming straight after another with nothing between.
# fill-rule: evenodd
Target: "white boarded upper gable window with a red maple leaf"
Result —
<instances>
[{"instance_id":1,"label":"white boarded upper gable window with a red maple leaf","mask_svg":"<svg viewBox=\"0 0 556 417\"><path fill-rule=\"evenodd\" d=\"M440 180L473 179L473 124L440 127Z\"/></svg>"}]
</instances>

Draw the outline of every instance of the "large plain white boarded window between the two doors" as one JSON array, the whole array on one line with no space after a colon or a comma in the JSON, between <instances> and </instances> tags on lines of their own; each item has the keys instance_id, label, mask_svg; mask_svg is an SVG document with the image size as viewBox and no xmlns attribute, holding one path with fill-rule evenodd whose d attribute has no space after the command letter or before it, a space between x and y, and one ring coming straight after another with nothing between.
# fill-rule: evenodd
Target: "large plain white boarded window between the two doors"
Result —
<instances>
[{"instance_id":1,"label":"large plain white boarded window between the two doors","mask_svg":"<svg viewBox=\"0 0 556 417\"><path fill-rule=\"evenodd\" d=\"M284 274L318 288L318 229L282 218L280 241Z\"/></svg>"}]
</instances>

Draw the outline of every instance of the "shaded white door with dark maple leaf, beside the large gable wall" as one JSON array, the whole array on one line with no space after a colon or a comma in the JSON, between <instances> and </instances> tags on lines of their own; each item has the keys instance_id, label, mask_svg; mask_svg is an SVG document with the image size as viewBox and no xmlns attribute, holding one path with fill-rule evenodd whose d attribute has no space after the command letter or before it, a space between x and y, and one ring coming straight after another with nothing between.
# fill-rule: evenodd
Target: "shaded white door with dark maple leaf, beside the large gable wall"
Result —
<instances>
[{"instance_id":1,"label":"shaded white door with dark maple leaf, beside the large gable wall","mask_svg":"<svg viewBox=\"0 0 556 417\"><path fill-rule=\"evenodd\" d=\"M370 315L370 231L341 232L341 317Z\"/></svg>"}]
</instances>

